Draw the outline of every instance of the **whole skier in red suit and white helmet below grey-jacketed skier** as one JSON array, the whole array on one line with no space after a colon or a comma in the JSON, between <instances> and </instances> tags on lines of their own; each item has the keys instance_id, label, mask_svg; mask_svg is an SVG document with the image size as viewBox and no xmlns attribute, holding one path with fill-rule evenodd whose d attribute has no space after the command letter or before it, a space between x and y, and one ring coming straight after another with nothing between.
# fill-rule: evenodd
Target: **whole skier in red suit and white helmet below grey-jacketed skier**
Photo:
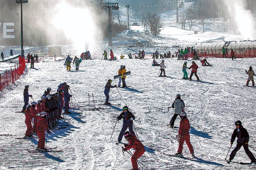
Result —
<instances>
[{"instance_id":1,"label":"whole skier in red suit and white helmet below grey-jacketed skier","mask_svg":"<svg viewBox=\"0 0 256 170\"><path fill-rule=\"evenodd\" d=\"M177 138L179 140L179 148L178 148L178 152L175 155L182 156L183 143L184 143L184 141L186 141L187 146L190 150L190 153L191 153L192 157L194 157L194 149L190 143L190 134L189 134L190 124L187 119L187 113L182 112L180 114L180 117L181 117L180 129L179 129L178 135L177 135Z\"/></svg>"}]
</instances>

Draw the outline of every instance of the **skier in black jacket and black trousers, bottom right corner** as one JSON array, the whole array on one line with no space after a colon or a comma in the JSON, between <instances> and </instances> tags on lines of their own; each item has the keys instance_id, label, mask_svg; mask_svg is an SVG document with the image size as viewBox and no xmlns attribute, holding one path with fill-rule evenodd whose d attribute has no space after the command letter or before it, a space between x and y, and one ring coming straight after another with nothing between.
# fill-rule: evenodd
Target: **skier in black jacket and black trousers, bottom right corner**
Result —
<instances>
[{"instance_id":1,"label":"skier in black jacket and black trousers, bottom right corner","mask_svg":"<svg viewBox=\"0 0 256 170\"><path fill-rule=\"evenodd\" d=\"M234 130L232 136L231 136L231 146L233 145L233 142L235 141L235 138L237 137L237 144L235 149L231 152L229 156L228 162L230 163L232 159L234 159L236 152L239 151L239 149L243 146L245 153L247 156L251 159L251 162L256 162L254 155L251 153L251 151L248 148L248 142L249 142L249 134L247 130L242 126L242 123L240 120L235 122L236 129Z\"/></svg>"}]
</instances>

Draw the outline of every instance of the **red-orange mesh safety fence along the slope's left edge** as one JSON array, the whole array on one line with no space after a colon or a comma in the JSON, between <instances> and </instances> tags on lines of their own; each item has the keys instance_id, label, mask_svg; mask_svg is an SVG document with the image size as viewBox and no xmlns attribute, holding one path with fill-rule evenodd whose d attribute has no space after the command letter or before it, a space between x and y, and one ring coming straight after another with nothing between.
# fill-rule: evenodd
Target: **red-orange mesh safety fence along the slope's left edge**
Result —
<instances>
[{"instance_id":1,"label":"red-orange mesh safety fence along the slope's left edge","mask_svg":"<svg viewBox=\"0 0 256 170\"><path fill-rule=\"evenodd\" d=\"M25 58L20 56L18 58L19 63L17 66L14 66L14 68L11 67L10 70L6 70L4 74L0 74L0 91L4 89L4 87L13 84L23 74L26 68Z\"/></svg>"}]
</instances>

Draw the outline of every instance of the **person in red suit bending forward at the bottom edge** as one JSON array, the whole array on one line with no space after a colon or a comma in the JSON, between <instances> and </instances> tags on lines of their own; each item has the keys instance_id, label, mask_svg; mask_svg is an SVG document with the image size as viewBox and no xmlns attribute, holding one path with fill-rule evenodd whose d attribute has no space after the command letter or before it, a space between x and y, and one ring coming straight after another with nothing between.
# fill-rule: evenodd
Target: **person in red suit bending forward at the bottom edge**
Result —
<instances>
[{"instance_id":1,"label":"person in red suit bending forward at the bottom edge","mask_svg":"<svg viewBox=\"0 0 256 170\"><path fill-rule=\"evenodd\" d=\"M127 141L129 141L129 144L124 144L125 148L123 148L123 151L127 151L131 148L135 149L135 152L132 155L131 161L132 161L133 170L138 170L139 168L138 168L137 160L145 152L145 147L137 139L137 137L132 135L129 131L124 133L124 137L126 138Z\"/></svg>"}]
</instances>

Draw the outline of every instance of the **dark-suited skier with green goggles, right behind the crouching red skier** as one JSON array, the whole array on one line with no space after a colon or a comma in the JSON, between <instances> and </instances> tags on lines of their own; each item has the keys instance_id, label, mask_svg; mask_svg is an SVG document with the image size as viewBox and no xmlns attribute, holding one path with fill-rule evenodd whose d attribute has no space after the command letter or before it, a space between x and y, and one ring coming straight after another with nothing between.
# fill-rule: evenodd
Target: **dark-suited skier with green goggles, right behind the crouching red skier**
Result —
<instances>
[{"instance_id":1,"label":"dark-suited skier with green goggles, right behind the crouching red skier","mask_svg":"<svg viewBox=\"0 0 256 170\"><path fill-rule=\"evenodd\" d=\"M117 120L121 120L122 118L123 118L123 126L118 136L118 142L122 141L124 132L127 130L127 128L129 128L129 131L132 135L136 136L133 131L133 120L135 120L135 116L130 111L128 111L127 106L123 107L123 112L117 117Z\"/></svg>"}]
</instances>

